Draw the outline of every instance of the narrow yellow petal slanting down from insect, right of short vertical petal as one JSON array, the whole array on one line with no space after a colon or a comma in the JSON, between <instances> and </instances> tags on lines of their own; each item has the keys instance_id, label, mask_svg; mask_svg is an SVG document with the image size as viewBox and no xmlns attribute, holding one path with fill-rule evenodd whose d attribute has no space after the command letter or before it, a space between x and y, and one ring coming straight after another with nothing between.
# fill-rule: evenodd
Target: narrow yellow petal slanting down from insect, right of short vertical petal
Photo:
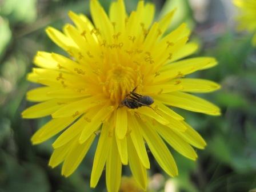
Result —
<instances>
[{"instance_id":1,"label":"narrow yellow petal slanting down from insect, right of short vertical petal","mask_svg":"<svg viewBox=\"0 0 256 192\"><path fill-rule=\"evenodd\" d=\"M133 145L135 150L137 151L139 159L141 159L142 165L146 168L150 168L149 157L147 156L147 151L145 147L145 143L143 141L143 137L141 134L141 126L135 121L133 115L129 115L129 129L131 141L133 141Z\"/></svg>"}]
</instances>

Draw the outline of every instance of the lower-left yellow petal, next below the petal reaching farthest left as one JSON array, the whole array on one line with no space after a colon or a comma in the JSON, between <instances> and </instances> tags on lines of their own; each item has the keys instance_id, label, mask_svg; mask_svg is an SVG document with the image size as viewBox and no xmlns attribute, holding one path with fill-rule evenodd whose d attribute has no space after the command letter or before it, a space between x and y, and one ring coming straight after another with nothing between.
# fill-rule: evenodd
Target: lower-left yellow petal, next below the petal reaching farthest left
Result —
<instances>
[{"instance_id":1,"label":"lower-left yellow petal, next below the petal reaching farthest left","mask_svg":"<svg viewBox=\"0 0 256 192\"><path fill-rule=\"evenodd\" d=\"M76 118L67 117L67 118L58 118L51 119L45 125L43 125L31 138L33 145L42 143L47 139L53 137L55 134L59 133L70 125Z\"/></svg>"}]
</instances>

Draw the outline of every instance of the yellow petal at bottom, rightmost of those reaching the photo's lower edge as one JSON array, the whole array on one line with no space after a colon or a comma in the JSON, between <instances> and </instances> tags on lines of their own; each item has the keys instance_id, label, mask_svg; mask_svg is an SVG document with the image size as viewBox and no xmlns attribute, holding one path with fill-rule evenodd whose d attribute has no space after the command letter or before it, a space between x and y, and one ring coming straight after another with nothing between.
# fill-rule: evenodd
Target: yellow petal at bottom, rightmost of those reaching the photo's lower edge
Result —
<instances>
[{"instance_id":1,"label":"yellow petal at bottom, rightmost of those reaching the photo's lower edge","mask_svg":"<svg viewBox=\"0 0 256 192\"><path fill-rule=\"evenodd\" d=\"M129 153L129 167L133 177L139 186L143 190L146 190L147 187L147 171L146 168L142 165L141 159L139 159L137 151L131 141L130 137L127 137L128 142L128 153Z\"/></svg>"}]
</instances>

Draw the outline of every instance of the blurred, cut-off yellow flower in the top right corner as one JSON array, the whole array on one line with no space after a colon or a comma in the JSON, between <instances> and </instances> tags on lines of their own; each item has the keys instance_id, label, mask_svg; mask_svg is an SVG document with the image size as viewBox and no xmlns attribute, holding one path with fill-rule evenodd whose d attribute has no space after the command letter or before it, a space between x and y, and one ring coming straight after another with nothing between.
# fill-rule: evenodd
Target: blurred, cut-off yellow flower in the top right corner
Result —
<instances>
[{"instance_id":1,"label":"blurred, cut-off yellow flower in the top right corner","mask_svg":"<svg viewBox=\"0 0 256 192\"><path fill-rule=\"evenodd\" d=\"M248 30L254 33L253 46L256 46L256 1L255 0L234 0L235 6L239 8L239 16L237 21L239 23L239 30Z\"/></svg>"}]
</instances>

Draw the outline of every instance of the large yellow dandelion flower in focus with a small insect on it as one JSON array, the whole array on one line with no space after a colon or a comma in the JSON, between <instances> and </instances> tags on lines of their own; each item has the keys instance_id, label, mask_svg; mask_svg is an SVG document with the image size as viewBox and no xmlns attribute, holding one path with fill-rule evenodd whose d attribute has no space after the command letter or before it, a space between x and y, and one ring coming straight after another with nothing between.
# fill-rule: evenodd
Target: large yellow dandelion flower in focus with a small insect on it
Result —
<instances>
[{"instance_id":1,"label":"large yellow dandelion flower in focus with a small insect on it","mask_svg":"<svg viewBox=\"0 0 256 192\"><path fill-rule=\"evenodd\" d=\"M38 52L34 59L37 68L28 79L43 86L30 90L27 99L40 103L22 116L51 115L31 141L42 143L58 134L49 165L62 163L65 177L77 169L99 137L90 186L97 185L106 167L107 190L118 191L122 165L129 165L135 181L145 190L146 170L150 169L145 143L171 177L178 169L163 140L193 160L197 158L193 147L205 147L203 138L168 106L219 115L217 106L190 94L215 91L219 85L184 78L217 62L210 57L181 60L194 53L197 45L187 43L190 31L185 24L165 35L175 11L153 22L154 6L143 1L130 15L123 0L111 3L109 16L97 0L90 1L90 10L93 23L70 11L74 26L65 25L63 33L53 27L46 29L68 56ZM131 91L154 103L138 105ZM125 99L130 99L127 105Z\"/></svg>"}]
</instances>

